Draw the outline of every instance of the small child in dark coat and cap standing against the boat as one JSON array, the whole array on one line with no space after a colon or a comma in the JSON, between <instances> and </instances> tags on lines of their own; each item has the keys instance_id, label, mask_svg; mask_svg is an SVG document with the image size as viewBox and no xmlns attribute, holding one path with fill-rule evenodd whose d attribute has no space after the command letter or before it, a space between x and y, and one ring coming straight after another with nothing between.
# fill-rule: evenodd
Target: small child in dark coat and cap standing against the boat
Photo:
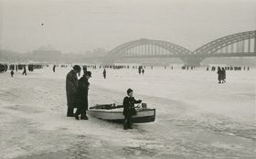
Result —
<instances>
[{"instance_id":1,"label":"small child in dark coat and cap standing against the boat","mask_svg":"<svg viewBox=\"0 0 256 159\"><path fill-rule=\"evenodd\" d=\"M136 114L134 103L141 103L142 101L136 101L133 98L133 90L128 89L127 90L127 97L124 97L123 99L123 115L124 115L124 123L123 123L123 129L133 129L132 127L132 117Z\"/></svg>"}]
</instances>

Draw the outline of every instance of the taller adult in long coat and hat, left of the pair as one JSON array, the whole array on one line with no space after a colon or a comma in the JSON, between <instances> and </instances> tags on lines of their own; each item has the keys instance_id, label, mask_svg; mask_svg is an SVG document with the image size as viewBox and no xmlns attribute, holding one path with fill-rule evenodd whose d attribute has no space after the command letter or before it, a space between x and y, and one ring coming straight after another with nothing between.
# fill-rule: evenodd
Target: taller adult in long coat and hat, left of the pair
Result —
<instances>
[{"instance_id":1,"label":"taller adult in long coat and hat, left of the pair","mask_svg":"<svg viewBox=\"0 0 256 159\"><path fill-rule=\"evenodd\" d=\"M69 71L66 77L66 93L68 103L68 117L74 117L74 108L76 107L76 95L78 90L78 76L80 74L80 66L75 65L72 70Z\"/></svg>"}]
</instances>

